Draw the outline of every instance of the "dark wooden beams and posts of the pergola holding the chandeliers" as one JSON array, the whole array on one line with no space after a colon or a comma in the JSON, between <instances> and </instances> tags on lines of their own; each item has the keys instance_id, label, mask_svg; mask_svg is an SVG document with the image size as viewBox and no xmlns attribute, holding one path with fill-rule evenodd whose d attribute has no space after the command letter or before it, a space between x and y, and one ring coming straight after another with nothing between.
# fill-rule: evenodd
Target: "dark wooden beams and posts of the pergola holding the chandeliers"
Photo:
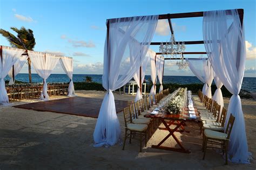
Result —
<instances>
[{"instance_id":1,"label":"dark wooden beams and posts of the pergola holding the chandeliers","mask_svg":"<svg viewBox=\"0 0 256 170\"><path fill-rule=\"evenodd\" d=\"M228 13L231 14L231 10L225 10ZM240 23L241 23L241 26L242 26L242 23L243 23L243 20L244 20L244 9L237 9L238 11L238 15L239 15L239 18L240 18ZM185 12L185 13L167 13L167 14L162 14L162 15L159 15L158 19L167 19L168 20L168 23L169 23L169 26L170 26L170 31L171 31L171 34L174 35L174 31L173 31L173 27L172 27L172 22L171 22L171 19L174 19L174 18L194 18L194 17L203 17L204 16L204 12L205 11L200 11L200 12ZM138 17L139 18L139 17ZM110 23L114 23L115 20L117 18L112 18L112 19L107 19L107 43L109 42L109 24ZM128 17L124 17L124 18L118 18L121 22L125 22ZM175 41L175 39L174 39ZM182 43L184 42L185 45L196 45L196 44L204 44L204 41L203 40L197 40L197 41L175 41L177 44L178 43ZM160 45L161 42L151 42L150 45ZM109 46L109 44L107 44L107 46ZM156 55L160 55L162 53L158 52L156 53ZM181 55L183 54L207 54L206 52L184 52L184 53L181 53ZM110 58L109 58L110 60ZM176 58L165 58L165 60L177 60ZM155 63L156 63L156 56L155 56ZM163 76L164 76L164 68L163 68ZM139 81L140 81L140 84L142 84L142 67L140 67L140 77L139 77ZM162 79L163 80L163 79ZM142 93L142 88L140 88L140 93Z\"/></svg>"}]
</instances>

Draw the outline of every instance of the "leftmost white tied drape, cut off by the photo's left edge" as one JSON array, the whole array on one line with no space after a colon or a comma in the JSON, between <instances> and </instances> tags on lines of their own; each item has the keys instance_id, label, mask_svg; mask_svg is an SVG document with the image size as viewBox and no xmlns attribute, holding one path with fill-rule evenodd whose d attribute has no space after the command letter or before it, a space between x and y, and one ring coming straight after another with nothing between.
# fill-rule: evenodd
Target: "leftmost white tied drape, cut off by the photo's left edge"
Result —
<instances>
[{"instance_id":1,"label":"leftmost white tied drape, cut off by the photo's left edge","mask_svg":"<svg viewBox=\"0 0 256 170\"><path fill-rule=\"evenodd\" d=\"M2 56L0 56L0 104L9 105L9 98L5 89L4 77L8 74L11 67L25 50L4 46L1 46L0 48L2 48Z\"/></svg>"}]
</instances>

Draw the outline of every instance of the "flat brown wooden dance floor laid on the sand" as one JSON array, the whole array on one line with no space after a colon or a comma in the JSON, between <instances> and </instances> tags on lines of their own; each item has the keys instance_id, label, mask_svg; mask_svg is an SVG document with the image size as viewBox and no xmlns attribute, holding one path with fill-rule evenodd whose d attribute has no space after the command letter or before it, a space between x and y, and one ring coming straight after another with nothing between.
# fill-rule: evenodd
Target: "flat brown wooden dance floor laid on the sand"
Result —
<instances>
[{"instance_id":1,"label":"flat brown wooden dance floor laid on the sand","mask_svg":"<svg viewBox=\"0 0 256 170\"><path fill-rule=\"evenodd\" d=\"M102 101L103 99L99 98L68 97L45 102L15 105L14 107L97 118ZM114 102L116 103L117 113L123 111L123 108L128 107L132 103L131 101L119 100L115 100Z\"/></svg>"}]
</instances>

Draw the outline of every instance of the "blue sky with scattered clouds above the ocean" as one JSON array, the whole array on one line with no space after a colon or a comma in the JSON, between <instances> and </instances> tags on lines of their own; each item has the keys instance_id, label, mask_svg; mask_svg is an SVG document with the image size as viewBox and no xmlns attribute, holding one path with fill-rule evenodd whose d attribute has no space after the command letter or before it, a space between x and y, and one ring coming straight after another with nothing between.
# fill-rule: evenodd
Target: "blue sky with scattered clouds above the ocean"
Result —
<instances>
[{"instance_id":1,"label":"blue sky with scattered clouds above the ocean","mask_svg":"<svg viewBox=\"0 0 256 170\"><path fill-rule=\"evenodd\" d=\"M197 12L225 9L244 9L246 39L245 77L256 77L256 1L82 1L82 0L0 0L0 28L33 30L36 39L34 51L71 56L73 74L102 74L106 36L106 19L166 13ZM203 17L172 19L177 41L203 40ZM16 35L16 34L15 34ZM169 41L167 20L159 20L152 41ZM0 35L0 45L10 46ZM158 46L150 46L159 52ZM186 45L187 52L205 52L204 45ZM204 55L203 55L204 56ZM199 55L186 55L198 58ZM164 75L193 75L178 70L175 61L166 60ZM28 73L24 65L21 73ZM32 68L32 73L36 73ZM65 74L58 64L53 73ZM149 72L147 72L149 74Z\"/></svg>"}]
</instances>

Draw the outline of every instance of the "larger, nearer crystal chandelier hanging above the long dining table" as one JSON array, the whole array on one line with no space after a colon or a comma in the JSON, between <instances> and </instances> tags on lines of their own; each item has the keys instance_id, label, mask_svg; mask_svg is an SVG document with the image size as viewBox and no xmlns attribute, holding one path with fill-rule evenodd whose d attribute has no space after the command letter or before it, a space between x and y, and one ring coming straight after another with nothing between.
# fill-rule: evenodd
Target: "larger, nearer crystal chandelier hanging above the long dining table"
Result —
<instances>
[{"instance_id":1,"label":"larger, nearer crystal chandelier hanging above the long dining table","mask_svg":"<svg viewBox=\"0 0 256 170\"><path fill-rule=\"evenodd\" d=\"M176 44L174 34L171 34L170 42L161 42L159 51L163 55L171 55L171 58L177 58L177 54L180 55L180 59L183 60L183 56L181 55L183 52L185 52L185 43L182 42L181 44Z\"/></svg>"}]
</instances>

